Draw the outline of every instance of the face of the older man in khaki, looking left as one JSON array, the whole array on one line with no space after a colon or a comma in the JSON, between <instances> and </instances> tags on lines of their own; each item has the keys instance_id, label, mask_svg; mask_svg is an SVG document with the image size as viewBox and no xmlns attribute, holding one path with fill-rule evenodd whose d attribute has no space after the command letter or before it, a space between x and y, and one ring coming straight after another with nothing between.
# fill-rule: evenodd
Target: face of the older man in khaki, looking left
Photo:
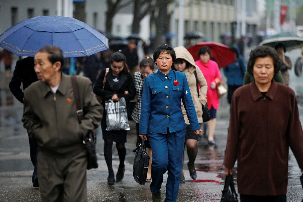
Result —
<instances>
[{"instance_id":1,"label":"face of the older man in khaki, looking left","mask_svg":"<svg viewBox=\"0 0 303 202\"><path fill-rule=\"evenodd\" d=\"M35 72L40 81L49 83L54 77L55 73L59 70L57 67L58 62L51 64L48 60L48 53L38 52L34 58Z\"/></svg>"}]
</instances>

